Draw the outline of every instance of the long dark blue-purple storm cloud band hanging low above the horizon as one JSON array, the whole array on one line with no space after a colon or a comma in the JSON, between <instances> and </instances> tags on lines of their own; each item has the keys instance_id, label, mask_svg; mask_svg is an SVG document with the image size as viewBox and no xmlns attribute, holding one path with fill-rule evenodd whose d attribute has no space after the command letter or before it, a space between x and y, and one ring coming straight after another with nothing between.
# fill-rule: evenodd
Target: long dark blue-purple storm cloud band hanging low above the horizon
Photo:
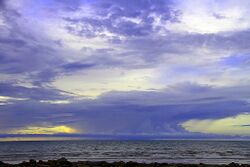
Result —
<instances>
[{"instance_id":1,"label":"long dark blue-purple storm cloud band hanging low above the horizon","mask_svg":"<svg viewBox=\"0 0 250 167\"><path fill-rule=\"evenodd\" d=\"M245 101L249 98L249 87L228 88L231 91L200 89L199 85L188 87L162 92L110 92L96 100L76 100L69 104L18 101L1 106L5 112L1 113L0 120L9 121L8 125L3 125L5 129L48 123L65 124L92 134L185 137L191 135L180 126L186 120L224 118L250 110L249 102ZM181 95L178 93L180 88ZM236 95L235 91L245 98ZM220 99L216 98L218 94L222 96ZM14 117L16 114L21 114L19 121ZM193 134L197 136L199 134Z\"/></svg>"}]
</instances>

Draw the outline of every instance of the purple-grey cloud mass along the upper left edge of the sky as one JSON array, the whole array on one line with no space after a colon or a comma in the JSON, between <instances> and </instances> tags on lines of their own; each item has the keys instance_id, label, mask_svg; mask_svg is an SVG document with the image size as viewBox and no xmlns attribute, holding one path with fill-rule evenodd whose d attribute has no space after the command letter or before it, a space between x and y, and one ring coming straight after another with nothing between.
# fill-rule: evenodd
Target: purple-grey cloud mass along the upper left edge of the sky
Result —
<instances>
[{"instance_id":1,"label":"purple-grey cloud mass along the upper left edge of the sky","mask_svg":"<svg viewBox=\"0 0 250 167\"><path fill-rule=\"evenodd\" d=\"M0 27L0 73L25 76L38 86L51 82L63 62L55 51L55 42L27 29L23 14L11 7L11 2L1 2L5 25Z\"/></svg>"}]
</instances>

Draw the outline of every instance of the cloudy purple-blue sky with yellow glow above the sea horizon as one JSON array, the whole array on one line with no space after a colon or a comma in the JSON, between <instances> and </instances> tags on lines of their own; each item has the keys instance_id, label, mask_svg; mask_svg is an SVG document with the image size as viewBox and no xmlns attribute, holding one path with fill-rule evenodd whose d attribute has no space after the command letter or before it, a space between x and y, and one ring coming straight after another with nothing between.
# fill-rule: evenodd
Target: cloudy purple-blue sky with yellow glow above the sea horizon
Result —
<instances>
[{"instance_id":1,"label":"cloudy purple-blue sky with yellow glow above the sea horizon","mask_svg":"<svg viewBox=\"0 0 250 167\"><path fill-rule=\"evenodd\" d=\"M250 139L249 0L0 0L0 140Z\"/></svg>"}]
</instances>

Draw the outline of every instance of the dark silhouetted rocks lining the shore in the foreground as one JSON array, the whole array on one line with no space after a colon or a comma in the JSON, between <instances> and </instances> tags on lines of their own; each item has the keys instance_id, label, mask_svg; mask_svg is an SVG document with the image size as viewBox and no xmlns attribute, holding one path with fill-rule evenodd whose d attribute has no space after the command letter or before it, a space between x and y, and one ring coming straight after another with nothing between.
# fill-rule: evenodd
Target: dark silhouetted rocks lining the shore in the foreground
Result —
<instances>
[{"instance_id":1,"label":"dark silhouetted rocks lining the shore in the foreground","mask_svg":"<svg viewBox=\"0 0 250 167\"><path fill-rule=\"evenodd\" d=\"M20 164L7 164L0 161L0 167L250 167L250 164L230 163L228 165L207 165L207 164L168 164L168 163L137 163L137 162L112 162L105 161L90 162L79 161L69 162L65 158L49 161L22 162Z\"/></svg>"}]
</instances>

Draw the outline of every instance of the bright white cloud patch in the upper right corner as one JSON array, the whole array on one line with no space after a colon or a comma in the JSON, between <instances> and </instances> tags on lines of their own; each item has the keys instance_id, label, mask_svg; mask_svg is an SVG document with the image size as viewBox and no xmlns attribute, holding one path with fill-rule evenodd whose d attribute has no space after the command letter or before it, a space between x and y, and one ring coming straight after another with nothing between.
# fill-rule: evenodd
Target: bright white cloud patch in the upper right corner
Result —
<instances>
[{"instance_id":1,"label":"bright white cloud patch in the upper right corner","mask_svg":"<svg viewBox=\"0 0 250 167\"><path fill-rule=\"evenodd\" d=\"M178 1L181 11L177 23L168 23L167 29L189 33L219 33L250 28L249 1Z\"/></svg>"}]
</instances>

